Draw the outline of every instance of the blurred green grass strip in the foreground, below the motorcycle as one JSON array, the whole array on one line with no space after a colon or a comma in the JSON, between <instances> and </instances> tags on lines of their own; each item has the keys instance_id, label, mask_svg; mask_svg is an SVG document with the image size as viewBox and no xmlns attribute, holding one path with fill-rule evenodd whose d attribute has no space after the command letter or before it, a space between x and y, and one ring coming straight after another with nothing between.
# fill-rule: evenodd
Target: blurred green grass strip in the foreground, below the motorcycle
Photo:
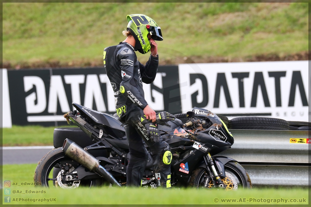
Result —
<instances>
[{"instance_id":1,"label":"blurred green grass strip in the foreground, below the motorcycle","mask_svg":"<svg viewBox=\"0 0 311 207\"><path fill-rule=\"evenodd\" d=\"M221 190L196 190L196 189L117 189L117 188L77 188L72 190L56 189L55 187L42 188L33 186L13 186L13 182L27 184L33 182L33 175L36 164L4 165L3 181L11 181L11 200L13 198L56 198L56 202L11 202L11 204L216 204L215 198L219 199L217 204L258 204L249 202L225 203L221 199L306 199L306 203L287 203L287 204L308 204L308 189L301 188L267 188L238 191ZM5 188L4 188L5 189ZM39 194L13 194L13 190L26 192L26 190L44 190L45 193ZM277 201L277 200L276 200ZM6 204L6 203L3 203ZM266 204L266 203L259 203ZM276 203L270 203L276 204ZM284 204L284 203L279 203Z\"/></svg>"}]
</instances>

